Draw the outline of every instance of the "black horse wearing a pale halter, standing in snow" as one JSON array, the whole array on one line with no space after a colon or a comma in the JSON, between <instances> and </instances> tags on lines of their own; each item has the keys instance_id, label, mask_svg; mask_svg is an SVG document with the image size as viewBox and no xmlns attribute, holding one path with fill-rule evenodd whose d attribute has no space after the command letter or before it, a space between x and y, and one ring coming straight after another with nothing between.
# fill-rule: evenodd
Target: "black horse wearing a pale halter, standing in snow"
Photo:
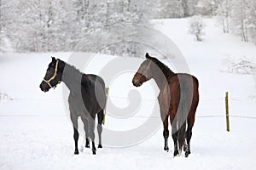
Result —
<instances>
[{"instance_id":1,"label":"black horse wearing a pale halter, standing in snow","mask_svg":"<svg viewBox=\"0 0 256 170\"><path fill-rule=\"evenodd\" d=\"M61 59L52 57L40 88L43 92L48 92L50 88L55 88L60 82L64 82L70 90L68 104L71 122L73 123L74 154L79 154L78 118L80 116L84 123L85 147L90 148L91 139L92 153L95 155L94 130L96 115L98 118L97 131L99 134L98 148L102 148L102 121L106 105L105 82L101 77L84 74Z\"/></svg>"}]
</instances>

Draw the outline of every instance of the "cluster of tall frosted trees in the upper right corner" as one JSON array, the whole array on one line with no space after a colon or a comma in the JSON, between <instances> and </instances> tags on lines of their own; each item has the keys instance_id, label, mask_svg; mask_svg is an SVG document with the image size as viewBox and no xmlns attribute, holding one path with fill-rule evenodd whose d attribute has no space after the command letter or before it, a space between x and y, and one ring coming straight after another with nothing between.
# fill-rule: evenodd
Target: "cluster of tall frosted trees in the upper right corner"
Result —
<instances>
[{"instance_id":1,"label":"cluster of tall frosted trees in the upper right corner","mask_svg":"<svg viewBox=\"0 0 256 170\"><path fill-rule=\"evenodd\" d=\"M255 0L221 0L217 16L224 33L232 31L241 36L241 41L256 44Z\"/></svg>"}]
</instances>

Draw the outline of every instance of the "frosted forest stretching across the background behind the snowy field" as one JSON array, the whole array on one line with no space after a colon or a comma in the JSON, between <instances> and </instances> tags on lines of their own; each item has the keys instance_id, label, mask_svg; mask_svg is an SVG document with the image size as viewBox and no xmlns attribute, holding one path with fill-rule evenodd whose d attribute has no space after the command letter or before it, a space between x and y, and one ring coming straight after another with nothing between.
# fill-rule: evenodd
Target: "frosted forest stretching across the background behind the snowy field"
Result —
<instances>
[{"instance_id":1,"label":"frosted forest stretching across the background behind the snowy field","mask_svg":"<svg viewBox=\"0 0 256 170\"><path fill-rule=\"evenodd\" d=\"M0 0L0 52L72 51L91 31L117 23L193 15L216 17L224 33L256 44L255 0Z\"/></svg>"}]
</instances>

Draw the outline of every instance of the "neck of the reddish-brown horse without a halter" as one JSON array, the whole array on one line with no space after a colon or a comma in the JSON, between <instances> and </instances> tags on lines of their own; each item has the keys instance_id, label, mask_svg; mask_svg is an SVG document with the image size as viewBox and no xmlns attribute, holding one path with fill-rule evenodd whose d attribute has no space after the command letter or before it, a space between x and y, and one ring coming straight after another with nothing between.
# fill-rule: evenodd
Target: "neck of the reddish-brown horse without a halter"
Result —
<instances>
[{"instance_id":1,"label":"neck of the reddish-brown horse without a halter","mask_svg":"<svg viewBox=\"0 0 256 170\"><path fill-rule=\"evenodd\" d=\"M171 71L166 65L164 65L160 61L158 63L156 63L156 65L158 66L158 68L154 69L154 71L152 71L152 73L153 73L152 75L153 75L154 81L156 82L158 88L162 89L162 88L164 88L164 86L166 85L166 82L168 82L170 77L175 75L175 73L173 71Z\"/></svg>"}]
</instances>

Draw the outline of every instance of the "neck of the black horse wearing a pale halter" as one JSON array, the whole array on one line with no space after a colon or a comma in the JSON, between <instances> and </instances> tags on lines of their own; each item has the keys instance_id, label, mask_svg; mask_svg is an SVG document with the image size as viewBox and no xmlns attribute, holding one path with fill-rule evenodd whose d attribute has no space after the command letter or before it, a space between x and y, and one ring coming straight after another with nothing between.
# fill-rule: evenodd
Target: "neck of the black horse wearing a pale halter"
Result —
<instances>
[{"instance_id":1,"label":"neck of the black horse wearing a pale halter","mask_svg":"<svg viewBox=\"0 0 256 170\"><path fill-rule=\"evenodd\" d=\"M81 92L81 81L83 74L75 67L66 64L62 73L62 82L67 85L71 93Z\"/></svg>"}]
</instances>

